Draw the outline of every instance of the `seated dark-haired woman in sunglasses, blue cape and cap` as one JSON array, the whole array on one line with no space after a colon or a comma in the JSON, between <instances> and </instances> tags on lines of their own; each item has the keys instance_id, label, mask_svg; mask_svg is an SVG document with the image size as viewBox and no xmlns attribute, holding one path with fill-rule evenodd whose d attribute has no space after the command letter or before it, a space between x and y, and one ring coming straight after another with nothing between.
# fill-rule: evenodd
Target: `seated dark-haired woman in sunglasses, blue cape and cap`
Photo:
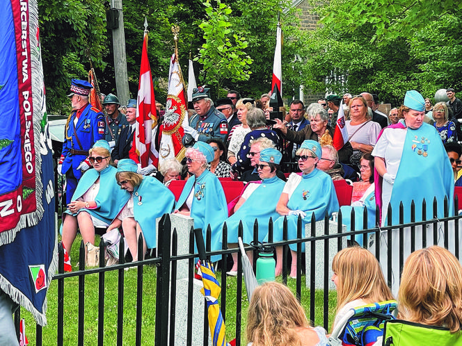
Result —
<instances>
[{"instance_id":1,"label":"seated dark-haired woman in sunglasses, blue cape and cap","mask_svg":"<svg viewBox=\"0 0 462 346\"><path fill-rule=\"evenodd\" d=\"M226 220L228 226L228 243L237 242L239 222L242 221L242 241L249 244L253 240L253 224L258 220L258 241L268 236L269 219L276 220L278 197L282 193L285 181L278 178L276 173L282 154L276 149L268 148L260 151L260 161L255 166L262 181L248 183L236 206L234 214ZM253 252L248 252L250 263ZM228 274L237 274L237 254L232 254L233 265Z\"/></svg>"}]
</instances>

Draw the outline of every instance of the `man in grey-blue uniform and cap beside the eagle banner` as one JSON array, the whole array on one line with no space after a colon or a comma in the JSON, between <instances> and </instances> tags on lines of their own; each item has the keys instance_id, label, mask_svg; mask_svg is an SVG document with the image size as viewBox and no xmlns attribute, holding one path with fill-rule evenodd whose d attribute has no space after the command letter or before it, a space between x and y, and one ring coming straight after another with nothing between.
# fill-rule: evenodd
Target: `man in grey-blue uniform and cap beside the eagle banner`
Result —
<instances>
[{"instance_id":1,"label":"man in grey-blue uniform and cap beside the eagle banner","mask_svg":"<svg viewBox=\"0 0 462 346\"><path fill-rule=\"evenodd\" d=\"M184 133L191 135L196 142L205 142L209 138L217 137L225 143L228 138L228 120L223 113L216 110L209 91L209 88L204 87L193 90L196 113L189 119L189 126L183 126Z\"/></svg>"}]
</instances>

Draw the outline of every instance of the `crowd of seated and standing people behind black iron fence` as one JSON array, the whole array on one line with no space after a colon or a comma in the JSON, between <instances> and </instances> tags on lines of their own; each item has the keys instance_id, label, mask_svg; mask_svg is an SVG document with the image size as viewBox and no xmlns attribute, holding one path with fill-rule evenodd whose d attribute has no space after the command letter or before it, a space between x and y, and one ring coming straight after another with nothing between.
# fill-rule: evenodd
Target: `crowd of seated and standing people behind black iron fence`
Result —
<instances>
[{"instance_id":1,"label":"crowd of seated and standing people behind black iron fence","mask_svg":"<svg viewBox=\"0 0 462 346\"><path fill-rule=\"evenodd\" d=\"M246 244L253 238L255 220L260 226L258 239L267 241L270 217L273 241L284 238L286 222L287 238L294 239L298 220L304 226L339 211L333 181L344 179L353 185L350 209L342 207L344 224L350 222L347 214L351 208L360 217L366 207L370 213L367 226L376 226L375 205L381 209L381 224L398 224L400 202L404 204L404 222L410 220L412 201L419 206L426 199L427 215L433 215L428 201L436 198L438 215L443 215L443 200L452 200L454 181L459 178L461 149L456 128L462 110L451 89L447 90L447 104L438 102L433 107L419 92L408 91L403 104L392 108L389 117L379 112L376 95L363 92L328 95L307 108L303 101L293 100L281 118L274 116L271 94L251 99L230 90L227 97L214 103L209 89L196 88L189 105L193 109L189 124L183 125L185 157L164 160L159 167L153 163L142 167L134 150L136 100L120 107L116 95L108 94L102 102L104 116L88 103L90 88L86 81L72 80L69 97L73 112L58 163L58 172L65 174L67 181L65 249L72 247L77 229L84 242L93 244L95 228L108 227L128 236L130 252L136 258L136 235L143 233L145 249L156 247L153 220L172 212L190 215L204 235L210 226L212 250L221 249L225 223L228 243L237 243L240 220ZM340 108L345 115L343 123L337 122ZM161 111L158 116L161 124ZM433 126L425 122L426 117L432 119ZM333 138L339 126L346 128L348 138L344 145L336 145L337 150ZM447 131L442 130L444 126ZM154 137L158 145L159 133ZM446 148L448 154L443 143L452 146L449 151ZM130 165L127 160L132 160ZM248 183L232 208L219 180L223 178ZM163 188L154 186L153 179ZM167 187L176 179L187 181L175 202ZM410 189L413 193L407 193ZM388 220L389 205L392 220ZM415 212L416 220L422 220L422 208ZM355 224L357 228L366 226ZM297 270L295 249L296 245L291 245L291 277ZM276 254L276 274L280 274L280 247ZM234 261L231 274L236 265Z\"/></svg>"}]
</instances>

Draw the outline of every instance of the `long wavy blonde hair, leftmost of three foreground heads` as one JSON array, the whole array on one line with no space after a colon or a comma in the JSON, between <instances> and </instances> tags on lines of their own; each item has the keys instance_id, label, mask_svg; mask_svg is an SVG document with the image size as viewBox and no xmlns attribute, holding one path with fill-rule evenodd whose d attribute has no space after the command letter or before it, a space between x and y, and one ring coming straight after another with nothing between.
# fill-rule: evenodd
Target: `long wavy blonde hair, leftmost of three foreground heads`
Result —
<instances>
[{"instance_id":1,"label":"long wavy blonde hair, leftmost of three foreground heads","mask_svg":"<svg viewBox=\"0 0 462 346\"><path fill-rule=\"evenodd\" d=\"M302 345L297 327L309 327L305 311L286 286L266 282L248 306L247 340L253 346Z\"/></svg>"}]
</instances>

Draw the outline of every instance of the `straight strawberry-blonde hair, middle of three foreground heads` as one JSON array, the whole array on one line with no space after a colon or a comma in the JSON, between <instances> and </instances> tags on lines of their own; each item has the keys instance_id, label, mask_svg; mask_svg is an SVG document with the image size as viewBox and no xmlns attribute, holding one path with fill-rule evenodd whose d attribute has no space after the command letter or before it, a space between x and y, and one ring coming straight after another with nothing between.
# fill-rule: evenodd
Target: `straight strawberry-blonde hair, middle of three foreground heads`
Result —
<instances>
[{"instance_id":1,"label":"straight strawberry-blonde hair, middle of three foreground heads","mask_svg":"<svg viewBox=\"0 0 462 346\"><path fill-rule=\"evenodd\" d=\"M367 303L395 299L379 261L363 247L347 247L334 256L332 270L338 277L337 312L355 299Z\"/></svg>"}]
</instances>

